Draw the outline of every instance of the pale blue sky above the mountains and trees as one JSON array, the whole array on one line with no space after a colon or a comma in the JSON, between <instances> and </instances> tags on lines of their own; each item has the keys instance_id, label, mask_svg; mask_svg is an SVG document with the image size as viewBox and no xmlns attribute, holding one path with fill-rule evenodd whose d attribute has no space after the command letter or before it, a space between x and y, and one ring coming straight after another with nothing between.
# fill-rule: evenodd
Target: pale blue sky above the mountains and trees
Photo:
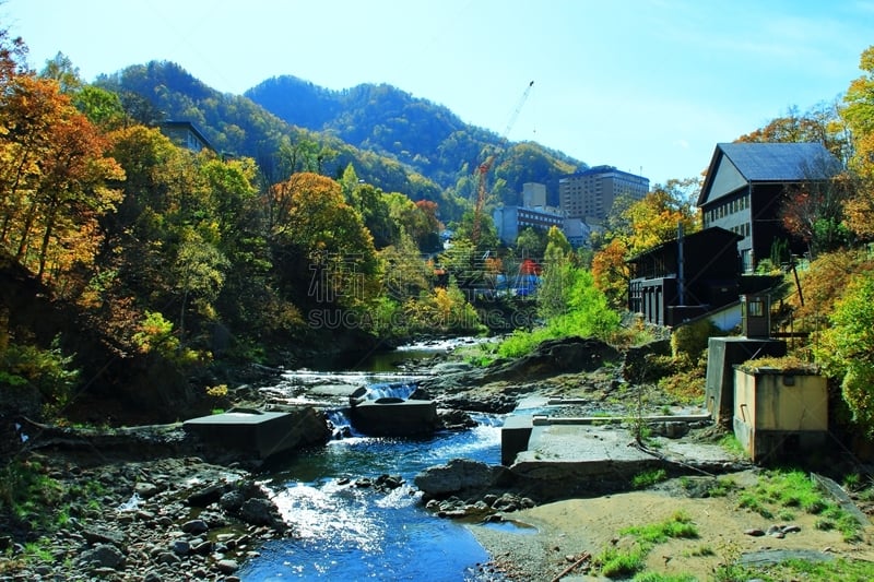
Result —
<instances>
[{"instance_id":1,"label":"pale blue sky above the mountains and trees","mask_svg":"<svg viewBox=\"0 0 874 582\"><path fill-rule=\"evenodd\" d=\"M718 142L834 103L874 45L874 0L0 0L31 64L86 81L150 60L241 94L292 74L389 83L464 122L653 183Z\"/></svg>"}]
</instances>

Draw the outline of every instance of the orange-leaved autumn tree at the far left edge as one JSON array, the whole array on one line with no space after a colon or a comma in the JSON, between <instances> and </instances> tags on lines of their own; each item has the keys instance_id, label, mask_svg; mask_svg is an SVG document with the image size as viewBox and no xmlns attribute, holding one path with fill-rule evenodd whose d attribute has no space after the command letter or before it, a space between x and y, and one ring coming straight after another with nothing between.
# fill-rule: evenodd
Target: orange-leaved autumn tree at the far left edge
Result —
<instances>
[{"instance_id":1,"label":"orange-leaved autumn tree at the far left edge","mask_svg":"<svg viewBox=\"0 0 874 582\"><path fill-rule=\"evenodd\" d=\"M55 81L17 75L3 95L0 240L38 277L88 264L97 221L119 200L123 173L107 143Z\"/></svg>"}]
</instances>

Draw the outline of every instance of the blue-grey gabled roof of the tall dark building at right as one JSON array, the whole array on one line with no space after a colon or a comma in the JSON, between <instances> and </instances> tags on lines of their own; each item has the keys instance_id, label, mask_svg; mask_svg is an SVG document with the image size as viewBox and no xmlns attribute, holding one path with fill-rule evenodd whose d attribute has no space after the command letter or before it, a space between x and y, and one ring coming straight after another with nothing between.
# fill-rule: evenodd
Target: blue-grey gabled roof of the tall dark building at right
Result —
<instances>
[{"instance_id":1,"label":"blue-grey gabled roof of the tall dark building at right","mask_svg":"<svg viewBox=\"0 0 874 582\"><path fill-rule=\"evenodd\" d=\"M825 180L838 169L838 161L822 143L718 143L707 168L698 205L728 193L711 192L720 178L723 186L790 183ZM727 176L729 174L732 176Z\"/></svg>"}]
</instances>

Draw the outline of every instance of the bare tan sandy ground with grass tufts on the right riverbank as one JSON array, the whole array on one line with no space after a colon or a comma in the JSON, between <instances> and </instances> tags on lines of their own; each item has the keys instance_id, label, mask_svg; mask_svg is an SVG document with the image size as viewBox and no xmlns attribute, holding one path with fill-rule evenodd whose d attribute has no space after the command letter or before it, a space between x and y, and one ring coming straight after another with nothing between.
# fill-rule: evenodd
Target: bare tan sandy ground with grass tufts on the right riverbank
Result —
<instances>
[{"instance_id":1,"label":"bare tan sandy ground with grass tufts on the right riverbank","mask_svg":"<svg viewBox=\"0 0 874 582\"><path fill-rule=\"evenodd\" d=\"M733 476L740 484L755 483L753 472ZM599 555L605 548L627 548L629 535L619 532L635 525L669 520L677 511L688 515L699 537L673 539L649 554L647 571L686 573L697 580L711 579L722 563L761 550L813 550L835 557L874 560L870 532L859 543L843 542L838 531L816 528L817 516L800 510L791 520L766 520L739 508L737 495L714 498L682 497L675 486L654 491L626 492L593 499L571 499L507 515L531 527L471 526L493 556L493 567L512 580L553 580L583 553ZM752 536L751 528L767 531L775 524L796 525L800 531L778 538ZM582 569L568 573L581 575Z\"/></svg>"}]
</instances>

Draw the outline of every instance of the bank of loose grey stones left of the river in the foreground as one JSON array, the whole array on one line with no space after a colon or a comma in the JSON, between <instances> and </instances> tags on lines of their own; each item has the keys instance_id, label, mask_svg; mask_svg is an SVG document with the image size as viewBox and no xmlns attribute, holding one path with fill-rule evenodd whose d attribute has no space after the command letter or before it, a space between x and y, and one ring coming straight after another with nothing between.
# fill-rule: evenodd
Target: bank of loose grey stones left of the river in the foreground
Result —
<instances>
[{"instance_id":1,"label":"bank of loose grey stones left of the river in the foreground","mask_svg":"<svg viewBox=\"0 0 874 582\"><path fill-rule=\"evenodd\" d=\"M5 523L0 580L235 580L264 541L294 535L251 476L198 458L84 461L34 453L57 488L57 531ZM38 468L43 467L43 468ZM16 535L17 534L17 535Z\"/></svg>"}]
</instances>

